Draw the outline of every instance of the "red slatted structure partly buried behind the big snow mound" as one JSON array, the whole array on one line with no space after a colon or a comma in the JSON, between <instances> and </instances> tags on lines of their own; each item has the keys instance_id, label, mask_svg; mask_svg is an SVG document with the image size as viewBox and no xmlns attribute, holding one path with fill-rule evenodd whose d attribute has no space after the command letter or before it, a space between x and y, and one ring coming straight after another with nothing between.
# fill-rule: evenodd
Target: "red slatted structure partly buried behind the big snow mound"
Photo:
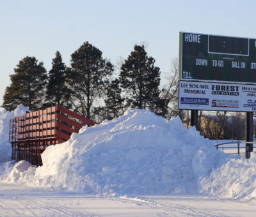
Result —
<instances>
[{"instance_id":1,"label":"red slatted structure partly buried behind the big snow mound","mask_svg":"<svg viewBox=\"0 0 256 217\"><path fill-rule=\"evenodd\" d=\"M15 117L10 120L9 134L12 160L26 160L40 166L41 154L47 146L65 142L84 125L94 124L60 105Z\"/></svg>"}]
</instances>

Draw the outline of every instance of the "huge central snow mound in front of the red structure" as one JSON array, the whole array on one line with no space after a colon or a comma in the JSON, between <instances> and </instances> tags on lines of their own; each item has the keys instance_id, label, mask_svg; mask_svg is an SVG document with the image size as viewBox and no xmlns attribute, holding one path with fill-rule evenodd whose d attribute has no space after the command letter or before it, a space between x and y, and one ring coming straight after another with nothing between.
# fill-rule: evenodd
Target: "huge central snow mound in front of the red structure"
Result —
<instances>
[{"instance_id":1,"label":"huge central snow mound in front of the red structure","mask_svg":"<svg viewBox=\"0 0 256 217\"><path fill-rule=\"evenodd\" d=\"M23 170L28 165L20 162L5 180L88 194L196 193L200 179L227 158L179 117L134 110L82 128L47 147L42 167Z\"/></svg>"}]
</instances>

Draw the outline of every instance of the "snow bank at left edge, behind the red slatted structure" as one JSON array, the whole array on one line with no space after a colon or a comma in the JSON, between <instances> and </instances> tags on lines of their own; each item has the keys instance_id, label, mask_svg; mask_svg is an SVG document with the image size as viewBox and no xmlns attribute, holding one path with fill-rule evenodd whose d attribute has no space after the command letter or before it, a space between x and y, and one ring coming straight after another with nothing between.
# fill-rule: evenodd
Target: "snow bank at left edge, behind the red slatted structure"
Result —
<instances>
[{"instance_id":1,"label":"snow bank at left edge, behind the red slatted structure","mask_svg":"<svg viewBox=\"0 0 256 217\"><path fill-rule=\"evenodd\" d=\"M11 160L12 157L12 146L9 143L10 119L15 116L22 116L27 111L30 112L24 105L19 105L12 112L5 109L0 111L0 163Z\"/></svg>"}]
</instances>

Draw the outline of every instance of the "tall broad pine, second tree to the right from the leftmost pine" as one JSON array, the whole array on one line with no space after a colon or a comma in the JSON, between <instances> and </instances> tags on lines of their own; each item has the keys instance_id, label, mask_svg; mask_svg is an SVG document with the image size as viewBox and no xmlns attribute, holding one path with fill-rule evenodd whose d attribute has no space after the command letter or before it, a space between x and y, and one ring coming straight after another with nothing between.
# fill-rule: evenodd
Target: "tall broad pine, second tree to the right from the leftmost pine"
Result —
<instances>
[{"instance_id":1,"label":"tall broad pine, second tree to the right from the leftmost pine","mask_svg":"<svg viewBox=\"0 0 256 217\"><path fill-rule=\"evenodd\" d=\"M93 101L113 73L113 65L86 41L71 55L71 66L68 81L72 88L72 105L76 112L90 119Z\"/></svg>"}]
</instances>

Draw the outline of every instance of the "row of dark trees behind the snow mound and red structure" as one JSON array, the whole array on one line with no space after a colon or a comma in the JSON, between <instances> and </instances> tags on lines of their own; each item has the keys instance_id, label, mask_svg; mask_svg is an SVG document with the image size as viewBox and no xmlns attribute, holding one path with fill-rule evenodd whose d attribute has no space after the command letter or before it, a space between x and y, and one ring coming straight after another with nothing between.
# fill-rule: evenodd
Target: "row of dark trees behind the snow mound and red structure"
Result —
<instances>
[{"instance_id":1,"label":"row of dark trees behind the snow mound and red structure","mask_svg":"<svg viewBox=\"0 0 256 217\"><path fill-rule=\"evenodd\" d=\"M62 105L97 122L118 117L130 108L183 118L178 109L178 60L172 61L169 82L162 89L155 62L144 45L135 45L114 76L115 66L88 41L71 55L70 67L58 51L49 72L42 62L27 56L10 75L2 107L13 110L22 103L35 111Z\"/></svg>"}]
</instances>

